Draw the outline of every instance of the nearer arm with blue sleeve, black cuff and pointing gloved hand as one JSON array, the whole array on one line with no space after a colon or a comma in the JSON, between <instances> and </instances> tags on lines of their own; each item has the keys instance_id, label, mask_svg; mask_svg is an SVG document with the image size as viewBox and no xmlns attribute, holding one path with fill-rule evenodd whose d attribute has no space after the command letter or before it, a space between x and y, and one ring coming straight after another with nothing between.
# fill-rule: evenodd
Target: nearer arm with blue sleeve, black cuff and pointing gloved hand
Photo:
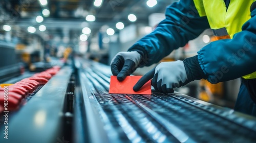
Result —
<instances>
[{"instance_id":1,"label":"nearer arm with blue sleeve, black cuff and pointing gloved hand","mask_svg":"<svg viewBox=\"0 0 256 143\"><path fill-rule=\"evenodd\" d=\"M176 62L162 62L145 74L133 87L138 91L148 80L160 92L191 81L207 79L218 83L236 79L256 71L256 2L251 6L251 19L233 39L211 42L198 55Z\"/></svg>"}]
</instances>

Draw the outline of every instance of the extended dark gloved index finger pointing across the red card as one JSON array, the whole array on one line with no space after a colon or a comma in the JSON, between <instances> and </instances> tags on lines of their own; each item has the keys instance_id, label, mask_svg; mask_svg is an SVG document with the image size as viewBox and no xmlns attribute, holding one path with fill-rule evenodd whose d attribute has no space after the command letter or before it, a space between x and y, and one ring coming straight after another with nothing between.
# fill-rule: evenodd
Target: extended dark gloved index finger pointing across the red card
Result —
<instances>
[{"instance_id":1,"label":"extended dark gloved index finger pointing across the red card","mask_svg":"<svg viewBox=\"0 0 256 143\"><path fill-rule=\"evenodd\" d=\"M151 69L146 73L144 76L142 76L139 81L134 85L133 90L139 91L140 88L149 80L151 80L154 77L155 74L155 68Z\"/></svg>"}]
</instances>

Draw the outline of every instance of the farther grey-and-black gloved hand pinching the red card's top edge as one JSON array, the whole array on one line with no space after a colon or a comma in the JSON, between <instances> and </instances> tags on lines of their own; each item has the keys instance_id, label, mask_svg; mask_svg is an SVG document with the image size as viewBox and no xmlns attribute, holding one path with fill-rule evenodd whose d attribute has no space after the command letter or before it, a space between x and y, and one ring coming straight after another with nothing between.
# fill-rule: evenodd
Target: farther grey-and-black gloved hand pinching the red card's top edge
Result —
<instances>
[{"instance_id":1,"label":"farther grey-and-black gloved hand pinching the red card's top edge","mask_svg":"<svg viewBox=\"0 0 256 143\"><path fill-rule=\"evenodd\" d=\"M122 81L131 75L141 62L141 55L137 51L119 52L111 61L111 71Z\"/></svg>"}]
</instances>

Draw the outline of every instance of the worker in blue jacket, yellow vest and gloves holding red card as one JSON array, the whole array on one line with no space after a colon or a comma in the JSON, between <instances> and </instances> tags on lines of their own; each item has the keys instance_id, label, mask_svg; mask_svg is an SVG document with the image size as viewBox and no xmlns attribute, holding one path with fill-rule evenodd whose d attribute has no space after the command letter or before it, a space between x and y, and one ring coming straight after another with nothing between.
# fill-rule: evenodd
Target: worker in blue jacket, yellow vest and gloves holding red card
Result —
<instances>
[{"instance_id":1,"label":"worker in blue jacket, yellow vest and gloves holding red card","mask_svg":"<svg viewBox=\"0 0 256 143\"><path fill-rule=\"evenodd\" d=\"M210 83L242 77L234 110L256 116L256 0L181 0L166 9L166 18L156 29L119 52L111 70L119 81L137 67L159 62L178 47L212 29L217 41L198 55L183 61L162 62L133 87L138 91L148 80L164 93L200 79Z\"/></svg>"}]
</instances>

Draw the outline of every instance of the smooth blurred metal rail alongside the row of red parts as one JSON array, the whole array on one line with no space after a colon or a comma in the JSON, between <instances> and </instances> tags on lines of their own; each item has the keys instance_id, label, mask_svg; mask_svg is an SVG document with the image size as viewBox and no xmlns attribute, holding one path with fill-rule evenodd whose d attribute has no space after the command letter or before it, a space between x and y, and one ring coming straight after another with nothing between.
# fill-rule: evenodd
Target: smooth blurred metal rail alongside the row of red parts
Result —
<instances>
[{"instance_id":1,"label":"smooth blurred metal rail alongside the row of red parts","mask_svg":"<svg viewBox=\"0 0 256 143\"><path fill-rule=\"evenodd\" d=\"M8 139L4 138L4 121L0 121L0 142L49 143L71 140L72 68L65 66L44 86L39 86L17 111L8 112ZM1 118L3 118L3 115ZM69 131L70 130L70 131ZM70 134L70 133L69 133ZM64 138L65 137L65 138ZM60 141L59 141L60 140Z\"/></svg>"}]
</instances>

